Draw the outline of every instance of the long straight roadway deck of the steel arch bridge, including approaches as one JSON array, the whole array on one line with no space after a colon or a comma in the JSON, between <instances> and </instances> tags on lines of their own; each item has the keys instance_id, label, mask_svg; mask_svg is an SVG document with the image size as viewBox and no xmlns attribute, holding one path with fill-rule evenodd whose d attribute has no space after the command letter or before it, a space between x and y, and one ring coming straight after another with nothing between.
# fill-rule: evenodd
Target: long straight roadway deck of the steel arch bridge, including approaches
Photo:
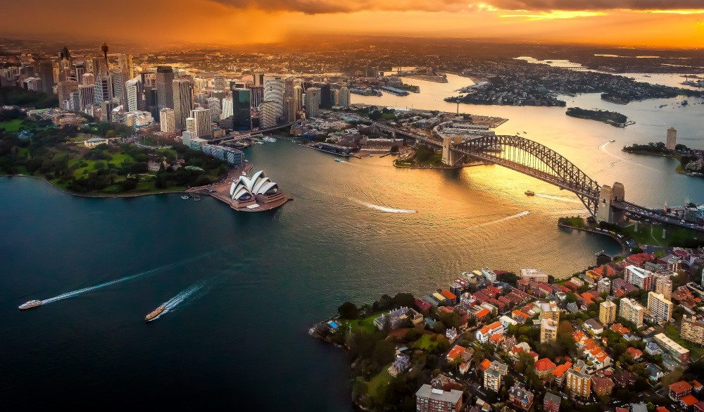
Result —
<instances>
[{"instance_id":1,"label":"long straight roadway deck of the steel arch bridge, including approaches","mask_svg":"<svg viewBox=\"0 0 704 412\"><path fill-rule=\"evenodd\" d=\"M389 127L387 125L384 125L382 123L376 123L375 125L380 129L384 130L385 132L395 132L396 135L403 135L407 136L416 140L420 140L425 143L433 144L434 146L439 146L442 147L442 142L439 141L439 139L432 139L430 137L424 136L424 135L417 135L416 133L409 132L408 130L402 130L402 129L397 129L395 127ZM455 150L457 151L457 150ZM574 194L577 194L579 197L584 197L584 198L589 198L592 201L598 201L599 199L599 194L591 191L584 191L582 187L573 187L572 185L568 185L566 182L561 181L558 177L555 177L554 175L551 175L549 173L544 173L541 172L540 170L536 170L533 168L529 168L528 166L521 165L519 163L515 163L512 161L508 161L503 158L498 158L496 156L491 156L491 155L486 155L486 154L481 154L481 153L474 153L474 152L465 152L465 151L458 151L458 153L466 155L466 156L471 156L473 158L478 158L483 161L487 161L489 163L494 163L499 166L503 166L505 168L509 168L511 170L515 170L519 173L523 173L524 175L529 175L532 177L535 177L536 179L542 180L543 182L550 183L551 185L555 185L557 187L560 187L560 189L566 189L570 190L570 192L574 192ZM585 205L586 206L586 205ZM644 208L643 206L638 206L636 204L629 203L627 201L612 201L611 206L613 208L617 208L621 211L630 213L631 215L635 216L640 216L641 218L646 218L653 220L655 222L659 223L665 223L667 225L673 225L673 226L679 226L679 227L685 227L690 230L696 230L698 232L704 232L704 225L697 225L694 223L683 223L681 222L681 219L674 218L672 216L665 216L661 213L658 213L658 211L653 211L648 208Z\"/></svg>"}]
</instances>

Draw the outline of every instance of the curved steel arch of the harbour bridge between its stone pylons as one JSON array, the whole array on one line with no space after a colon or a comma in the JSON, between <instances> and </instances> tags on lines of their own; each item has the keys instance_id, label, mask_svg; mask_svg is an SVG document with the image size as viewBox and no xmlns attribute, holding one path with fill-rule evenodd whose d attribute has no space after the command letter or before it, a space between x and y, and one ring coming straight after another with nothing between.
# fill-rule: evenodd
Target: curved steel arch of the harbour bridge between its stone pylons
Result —
<instances>
[{"instance_id":1,"label":"curved steel arch of the harbour bridge between its stone pylons","mask_svg":"<svg viewBox=\"0 0 704 412\"><path fill-rule=\"evenodd\" d=\"M574 192L596 218L601 187L574 163L547 146L520 136L482 136L451 148L469 156L536 177Z\"/></svg>"}]
</instances>

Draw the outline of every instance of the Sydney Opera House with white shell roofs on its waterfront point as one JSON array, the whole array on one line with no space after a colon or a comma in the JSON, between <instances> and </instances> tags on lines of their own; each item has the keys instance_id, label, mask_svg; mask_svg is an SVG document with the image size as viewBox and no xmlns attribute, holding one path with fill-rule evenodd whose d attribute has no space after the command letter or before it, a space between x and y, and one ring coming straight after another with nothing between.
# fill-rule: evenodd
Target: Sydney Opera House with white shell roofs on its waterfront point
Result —
<instances>
[{"instance_id":1,"label":"Sydney Opera House with white shell roofs on its waterfront point","mask_svg":"<svg viewBox=\"0 0 704 412\"><path fill-rule=\"evenodd\" d=\"M232 208L237 211L258 212L282 206L290 200L279 190L279 185L264 175L263 170L252 177L239 176L230 186Z\"/></svg>"}]
</instances>

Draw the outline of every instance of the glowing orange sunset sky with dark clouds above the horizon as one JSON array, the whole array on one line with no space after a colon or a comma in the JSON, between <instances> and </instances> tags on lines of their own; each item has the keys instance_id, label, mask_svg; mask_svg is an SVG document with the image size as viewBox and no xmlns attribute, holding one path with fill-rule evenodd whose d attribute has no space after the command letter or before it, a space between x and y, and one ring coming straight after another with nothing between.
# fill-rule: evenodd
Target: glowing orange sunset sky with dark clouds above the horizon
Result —
<instances>
[{"instance_id":1,"label":"glowing orange sunset sky with dark clouds above the horizon","mask_svg":"<svg viewBox=\"0 0 704 412\"><path fill-rule=\"evenodd\" d=\"M401 35L704 47L704 0L32 0L3 6L4 37L145 45Z\"/></svg>"}]
</instances>

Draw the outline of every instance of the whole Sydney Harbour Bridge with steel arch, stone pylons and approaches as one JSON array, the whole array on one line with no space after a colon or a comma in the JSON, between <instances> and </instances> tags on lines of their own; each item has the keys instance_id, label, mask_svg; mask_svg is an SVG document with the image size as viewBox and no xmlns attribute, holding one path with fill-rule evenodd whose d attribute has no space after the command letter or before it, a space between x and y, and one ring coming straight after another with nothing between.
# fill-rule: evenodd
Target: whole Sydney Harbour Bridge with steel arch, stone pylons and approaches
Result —
<instances>
[{"instance_id":1,"label":"whole Sydney Harbour Bridge with steel arch, stone pylons and approaches","mask_svg":"<svg viewBox=\"0 0 704 412\"><path fill-rule=\"evenodd\" d=\"M451 137L420 135L406 129L374 123L373 127L393 137L412 139L443 151L446 166L461 166L468 161L503 166L524 175L535 177L543 182L569 190L577 195L591 216L600 222L616 223L624 213L641 216L650 220L701 230L671 216L643 208L625 200L624 186L599 185L574 163L553 149L525 137L484 135L471 139L453 140Z\"/></svg>"}]
</instances>

